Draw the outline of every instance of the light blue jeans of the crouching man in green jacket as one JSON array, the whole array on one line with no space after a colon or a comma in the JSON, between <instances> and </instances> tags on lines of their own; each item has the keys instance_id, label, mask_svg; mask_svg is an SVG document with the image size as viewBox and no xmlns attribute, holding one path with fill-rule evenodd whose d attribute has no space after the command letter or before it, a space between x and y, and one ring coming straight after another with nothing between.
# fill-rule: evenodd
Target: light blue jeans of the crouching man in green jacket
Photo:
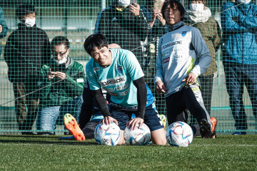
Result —
<instances>
[{"instance_id":1,"label":"light blue jeans of the crouching man in green jacket","mask_svg":"<svg viewBox=\"0 0 257 171\"><path fill-rule=\"evenodd\" d=\"M82 95L70 101L66 105L53 106L49 108L39 108L39 115L36 121L37 130L45 130L41 134L54 134L53 130L56 125L64 125L64 115L70 113L79 119L81 104L83 103Z\"/></svg>"}]
</instances>

